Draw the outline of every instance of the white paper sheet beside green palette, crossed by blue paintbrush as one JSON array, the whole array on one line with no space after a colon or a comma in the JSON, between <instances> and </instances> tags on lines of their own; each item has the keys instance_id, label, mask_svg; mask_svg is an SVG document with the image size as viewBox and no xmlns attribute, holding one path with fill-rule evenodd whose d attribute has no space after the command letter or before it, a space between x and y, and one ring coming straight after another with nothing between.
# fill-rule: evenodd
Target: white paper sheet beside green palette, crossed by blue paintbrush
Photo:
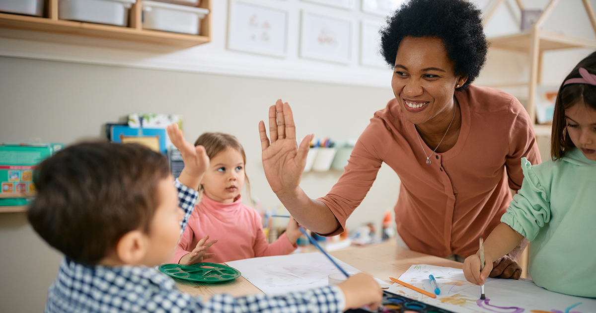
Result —
<instances>
[{"instance_id":1,"label":"white paper sheet beside green palette, crossed by blue paintbrush","mask_svg":"<svg viewBox=\"0 0 596 313\"><path fill-rule=\"evenodd\" d=\"M349 273L361 272L337 258L334 260ZM322 253L293 253L291 255L265 256L226 262L238 269L246 280L267 295L304 291L316 287L328 286L328 276L339 273L329 259ZM377 279L378 283L389 284Z\"/></svg>"}]
</instances>

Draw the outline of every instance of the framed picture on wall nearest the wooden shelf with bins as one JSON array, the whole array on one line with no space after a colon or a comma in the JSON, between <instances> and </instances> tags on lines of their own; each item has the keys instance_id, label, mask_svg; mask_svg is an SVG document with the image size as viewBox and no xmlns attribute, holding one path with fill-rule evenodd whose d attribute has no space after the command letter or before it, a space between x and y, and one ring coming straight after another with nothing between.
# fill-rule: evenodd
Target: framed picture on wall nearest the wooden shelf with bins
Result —
<instances>
[{"instance_id":1,"label":"framed picture on wall nearest the wooden shelf with bins","mask_svg":"<svg viewBox=\"0 0 596 313\"><path fill-rule=\"evenodd\" d=\"M288 13L240 1L230 1L228 49L285 57Z\"/></svg>"}]
</instances>

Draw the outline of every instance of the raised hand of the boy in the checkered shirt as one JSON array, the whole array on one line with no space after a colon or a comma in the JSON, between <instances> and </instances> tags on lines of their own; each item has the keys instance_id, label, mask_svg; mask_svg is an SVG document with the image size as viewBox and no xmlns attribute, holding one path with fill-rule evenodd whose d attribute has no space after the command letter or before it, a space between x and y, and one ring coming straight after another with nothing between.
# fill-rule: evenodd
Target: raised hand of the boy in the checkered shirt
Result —
<instances>
[{"instance_id":1,"label":"raised hand of the boy in the checkered shirt","mask_svg":"<svg viewBox=\"0 0 596 313\"><path fill-rule=\"evenodd\" d=\"M178 180L185 186L198 190L203 173L209 168L209 157L205 148L202 145L195 147L186 141L176 123L168 125L166 130L172 144L180 150L182 160L184 160L184 169L182 169Z\"/></svg>"}]
</instances>

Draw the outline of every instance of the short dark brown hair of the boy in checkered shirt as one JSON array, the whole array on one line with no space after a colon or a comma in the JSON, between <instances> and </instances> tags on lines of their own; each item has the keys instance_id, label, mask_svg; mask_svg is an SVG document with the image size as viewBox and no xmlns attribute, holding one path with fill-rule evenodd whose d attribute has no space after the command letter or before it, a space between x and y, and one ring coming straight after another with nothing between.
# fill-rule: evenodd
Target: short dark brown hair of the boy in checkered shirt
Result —
<instances>
[{"instance_id":1,"label":"short dark brown hair of the boy in checkered shirt","mask_svg":"<svg viewBox=\"0 0 596 313\"><path fill-rule=\"evenodd\" d=\"M150 231L168 175L166 159L143 145L75 144L39 165L27 218L52 247L94 265L129 231Z\"/></svg>"}]
</instances>

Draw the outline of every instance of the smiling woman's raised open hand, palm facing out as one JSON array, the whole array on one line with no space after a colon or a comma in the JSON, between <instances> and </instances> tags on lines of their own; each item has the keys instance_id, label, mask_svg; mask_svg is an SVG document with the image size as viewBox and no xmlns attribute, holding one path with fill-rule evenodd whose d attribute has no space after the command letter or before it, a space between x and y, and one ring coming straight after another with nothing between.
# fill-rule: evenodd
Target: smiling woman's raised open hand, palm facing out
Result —
<instances>
[{"instance_id":1,"label":"smiling woman's raised open hand, palm facing out","mask_svg":"<svg viewBox=\"0 0 596 313\"><path fill-rule=\"evenodd\" d=\"M259 122L263 169L271 189L276 194L293 192L300 184L306 165L306 155L313 135L296 143L296 126L288 103L277 100L269 107L269 137L265 123Z\"/></svg>"}]
</instances>

